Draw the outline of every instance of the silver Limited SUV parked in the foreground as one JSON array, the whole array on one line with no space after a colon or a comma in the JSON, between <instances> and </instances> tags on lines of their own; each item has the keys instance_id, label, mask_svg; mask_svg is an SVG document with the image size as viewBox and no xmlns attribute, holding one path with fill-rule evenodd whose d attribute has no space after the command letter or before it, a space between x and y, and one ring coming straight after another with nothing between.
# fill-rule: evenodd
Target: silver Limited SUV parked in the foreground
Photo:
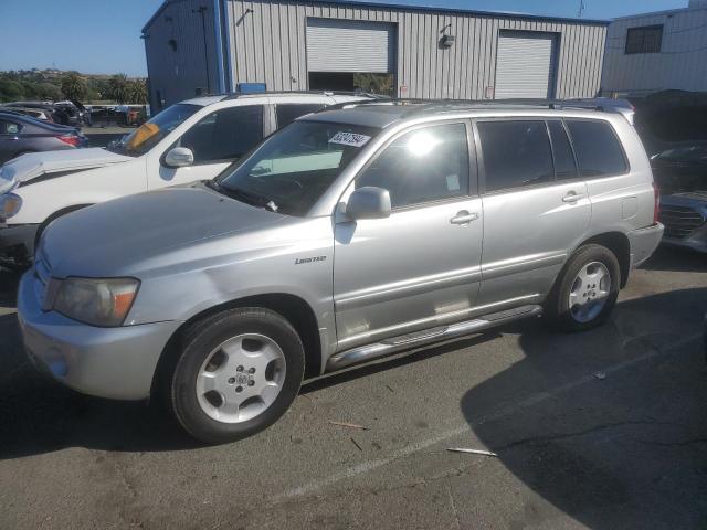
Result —
<instances>
[{"instance_id":1,"label":"silver Limited SUV parked in the foreground","mask_svg":"<svg viewBox=\"0 0 707 530\"><path fill-rule=\"evenodd\" d=\"M656 197L618 112L349 105L214 180L55 221L20 322L66 385L160 393L197 438L232 441L305 375L541 314L599 325L661 240Z\"/></svg>"}]
</instances>

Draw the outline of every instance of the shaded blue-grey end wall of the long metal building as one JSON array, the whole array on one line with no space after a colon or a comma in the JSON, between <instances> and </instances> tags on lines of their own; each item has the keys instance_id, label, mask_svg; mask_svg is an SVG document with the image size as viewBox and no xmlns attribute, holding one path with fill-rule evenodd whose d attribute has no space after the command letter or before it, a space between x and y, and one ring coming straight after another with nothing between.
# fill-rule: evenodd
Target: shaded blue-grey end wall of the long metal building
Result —
<instances>
[{"instance_id":1,"label":"shaded blue-grey end wall of the long metal building","mask_svg":"<svg viewBox=\"0 0 707 530\"><path fill-rule=\"evenodd\" d=\"M194 12L207 6L207 53L209 57L209 84L204 64L204 39L201 14ZM181 0L168 3L163 11L147 28L145 52L150 84L150 103L156 105L156 93L160 91L167 105L193 97L197 88L219 92L215 53L214 15L212 1ZM177 41L172 51L169 41Z\"/></svg>"}]
</instances>

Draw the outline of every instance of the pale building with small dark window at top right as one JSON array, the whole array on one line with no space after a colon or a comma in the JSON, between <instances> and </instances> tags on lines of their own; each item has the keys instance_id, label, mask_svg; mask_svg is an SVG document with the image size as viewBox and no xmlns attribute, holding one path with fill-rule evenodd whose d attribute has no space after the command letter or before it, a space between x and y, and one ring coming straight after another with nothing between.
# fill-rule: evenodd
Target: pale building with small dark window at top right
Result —
<instances>
[{"instance_id":1,"label":"pale building with small dark window at top right","mask_svg":"<svg viewBox=\"0 0 707 530\"><path fill-rule=\"evenodd\" d=\"M604 94L707 91L707 0L614 20L606 35Z\"/></svg>"}]
</instances>

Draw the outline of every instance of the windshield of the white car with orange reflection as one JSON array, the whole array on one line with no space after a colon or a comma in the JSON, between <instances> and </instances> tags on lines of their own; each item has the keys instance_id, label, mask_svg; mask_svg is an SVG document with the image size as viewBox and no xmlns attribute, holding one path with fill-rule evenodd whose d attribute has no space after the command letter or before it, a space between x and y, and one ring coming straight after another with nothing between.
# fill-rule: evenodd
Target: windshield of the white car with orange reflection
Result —
<instances>
[{"instance_id":1,"label":"windshield of the white car with orange reflection","mask_svg":"<svg viewBox=\"0 0 707 530\"><path fill-rule=\"evenodd\" d=\"M106 149L119 155L139 157L145 155L162 138L184 123L187 118L203 107L180 103L167 107L149 121L140 125L133 132L120 140L110 144Z\"/></svg>"}]
</instances>

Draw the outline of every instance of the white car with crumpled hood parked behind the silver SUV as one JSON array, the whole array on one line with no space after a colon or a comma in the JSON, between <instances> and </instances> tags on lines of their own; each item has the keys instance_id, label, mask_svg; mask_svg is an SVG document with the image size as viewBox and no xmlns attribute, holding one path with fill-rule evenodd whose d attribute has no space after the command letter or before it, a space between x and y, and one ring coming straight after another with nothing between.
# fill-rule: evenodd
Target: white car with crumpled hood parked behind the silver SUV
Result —
<instances>
[{"instance_id":1,"label":"white car with crumpled hood parked behind the silver SUV","mask_svg":"<svg viewBox=\"0 0 707 530\"><path fill-rule=\"evenodd\" d=\"M211 179L296 117L362 99L331 93L199 97L165 109L107 149L35 153L8 162L0 173L0 258L22 266L39 234L59 216L131 193Z\"/></svg>"}]
</instances>

